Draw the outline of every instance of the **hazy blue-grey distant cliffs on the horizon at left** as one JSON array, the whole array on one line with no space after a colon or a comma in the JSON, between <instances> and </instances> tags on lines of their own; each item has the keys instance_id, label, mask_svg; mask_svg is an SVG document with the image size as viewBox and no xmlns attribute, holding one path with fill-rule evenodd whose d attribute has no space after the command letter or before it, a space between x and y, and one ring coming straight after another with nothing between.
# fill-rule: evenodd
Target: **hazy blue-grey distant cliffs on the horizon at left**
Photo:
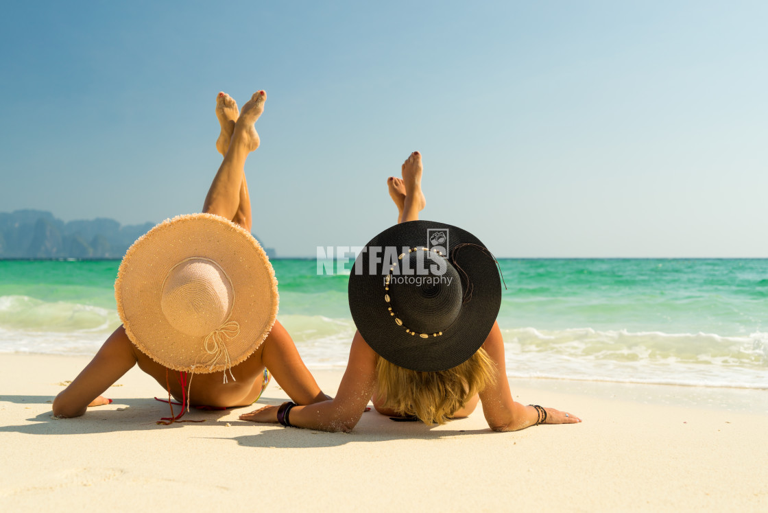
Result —
<instances>
[{"instance_id":1,"label":"hazy blue-grey distant cliffs on the horizon at left","mask_svg":"<svg viewBox=\"0 0 768 513\"><path fill-rule=\"evenodd\" d=\"M121 226L103 217L65 223L43 210L0 213L0 259L122 258L134 240L154 225ZM272 248L264 250L275 257Z\"/></svg>"}]
</instances>

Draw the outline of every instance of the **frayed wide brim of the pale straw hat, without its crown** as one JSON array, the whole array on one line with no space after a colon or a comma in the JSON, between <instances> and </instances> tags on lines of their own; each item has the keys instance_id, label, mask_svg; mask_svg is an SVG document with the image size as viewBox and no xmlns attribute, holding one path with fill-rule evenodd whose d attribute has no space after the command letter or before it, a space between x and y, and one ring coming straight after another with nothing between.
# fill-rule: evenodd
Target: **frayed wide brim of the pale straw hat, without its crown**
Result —
<instances>
[{"instance_id":1,"label":"frayed wide brim of the pale straw hat, without its crown","mask_svg":"<svg viewBox=\"0 0 768 513\"><path fill-rule=\"evenodd\" d=\"M234 291L230 316L237 335L223 340L227 358L211 363L205 336L180 333L161 309L167 273L189 258L213 260ZM139 237L125 253L114 283L125 333L141 352L169 369L218 372L243 362L270 334L277 318L277 279L269 257L239 225L211 213L165 220Z\"/></svg>"}]
</instances>

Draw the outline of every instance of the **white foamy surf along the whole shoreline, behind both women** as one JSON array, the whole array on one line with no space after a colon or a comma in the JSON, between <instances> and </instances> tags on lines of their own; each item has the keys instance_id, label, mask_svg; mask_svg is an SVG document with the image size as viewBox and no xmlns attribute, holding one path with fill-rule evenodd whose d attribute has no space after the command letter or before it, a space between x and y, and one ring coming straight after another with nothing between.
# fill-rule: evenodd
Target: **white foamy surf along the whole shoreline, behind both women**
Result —
<instances>
[{"instance_id":1,"label":"white foamy surf along the whole shoreline, behind both women","mask_svg":"<svg viewBox=\"0 0 768 513\"><path fill-rule=\"evenodd\" d=\"M290 296L290 294L289 294ZM309 300L308 300L309 301ZM281 309L290 311L290 306ZM349 317L278 317L310 369L346 366L356 327ZM664 333L627 329L510 328L499 319L508 376L768 389L768 333ZM120 324L114 309L0 296L0 352L93 355Z\"/></svg>"}]
</instances>

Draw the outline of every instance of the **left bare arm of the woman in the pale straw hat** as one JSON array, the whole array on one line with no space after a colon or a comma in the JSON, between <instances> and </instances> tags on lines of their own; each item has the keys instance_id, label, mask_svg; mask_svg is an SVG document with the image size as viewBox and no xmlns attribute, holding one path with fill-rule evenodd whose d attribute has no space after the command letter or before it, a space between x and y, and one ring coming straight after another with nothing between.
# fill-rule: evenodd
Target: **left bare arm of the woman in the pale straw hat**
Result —
<instances>
[{"instance_id":1,"label":"left bare arm of the woman in the pale straw hat","mask_svg":"<svg viewBox=\"0 0 768 513\"><path fill-rule=\"evenodd\" d=\"M120 379L136 363L131 340L120 326L114 330L78 377L61 391L53 402L58 417L79 417L88 405L107 404L96 401L106 389Z\"/></svg>"}]
</instances>

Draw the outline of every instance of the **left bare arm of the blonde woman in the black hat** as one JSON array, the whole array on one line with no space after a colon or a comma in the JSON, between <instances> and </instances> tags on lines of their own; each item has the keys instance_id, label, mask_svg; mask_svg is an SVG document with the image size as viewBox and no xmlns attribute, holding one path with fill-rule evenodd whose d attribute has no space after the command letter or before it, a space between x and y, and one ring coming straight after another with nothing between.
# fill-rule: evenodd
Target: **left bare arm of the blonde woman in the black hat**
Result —
<instances>
[{"instance_id":1,"label":"left bare arm of the blonde woman in the black hat","mask_svg":"<svg viewBox=\"0 0 768 513\"><path fill-rule=\"evenodd\" d=\"M349 362L333 401L295 406L290 411L290 423L299 428L323 431L351 431L365 411L376 387L376 352L359 332L355 333ZM276 406L266 406L240 415L252 422L277 422Z\"/></svg>"}]
</instances>

